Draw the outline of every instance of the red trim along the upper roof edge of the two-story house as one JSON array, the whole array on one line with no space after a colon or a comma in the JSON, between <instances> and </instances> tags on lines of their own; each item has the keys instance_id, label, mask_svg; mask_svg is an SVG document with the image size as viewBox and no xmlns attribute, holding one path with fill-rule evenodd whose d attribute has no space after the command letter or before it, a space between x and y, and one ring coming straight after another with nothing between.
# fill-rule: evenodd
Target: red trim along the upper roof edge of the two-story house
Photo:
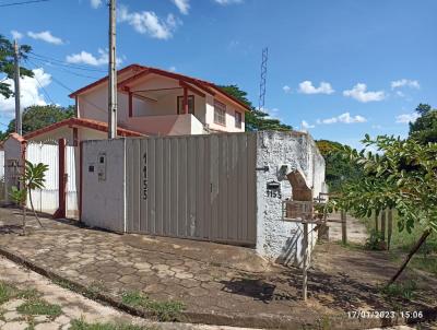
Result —
<instances>
[{"instance_id":1,"label":"red trim along the upper roof edge of the two-story house","mask_svg":"<svg viewBox=\"0 0 437 330\"><path fill-rule=\"evenodd\" d=\"M250 111L251 108L244 104L243 102L240 102L239 99L237 99L236 97L234 97L233 95L229 95L228 93L226 93L225 91L223 91L222 89L220 89L217 85L215 85L214 83L204 81L204 80L200 80L200 79L196 79L192 76L188 76L188 75L184 75L184 74L179 74L179 73L175 73L175 72L170 72L170 71L166 71L166 70L162 70L162 69L157 69L157 68L151 68L151 67L144 67L144 66L140 66L140 64L130 64L121 70L118 70L118 74L125 73L129 70L134 70L134 71L139 71L139 73L121 81L118 84L118 87L123 87L126 86L128 83L143 76L143 74L149 74L149 73L155 73L158 75L164 75L170 79L175 79L175 80L180 80L180 81L185 81L187 83L193 84L197 87L205 91L206 93L211 94L211 95L215 95L215 92L218 92L220 94L224 95L225 97L229 98L231 101L237 103L238 105L240 105L241 107L244 107L246 110ZM108 76L102 78L101 80L97 80L96 82L84 86L75 92L73 92L72 94L70 94L70 97L74 97L79 94L82 94L84 92L86 92L90 89L93 89L95 86L97 86L98 84L102 84L104 82L106 82L108 80Z\"/></svg>"}]
</instances>

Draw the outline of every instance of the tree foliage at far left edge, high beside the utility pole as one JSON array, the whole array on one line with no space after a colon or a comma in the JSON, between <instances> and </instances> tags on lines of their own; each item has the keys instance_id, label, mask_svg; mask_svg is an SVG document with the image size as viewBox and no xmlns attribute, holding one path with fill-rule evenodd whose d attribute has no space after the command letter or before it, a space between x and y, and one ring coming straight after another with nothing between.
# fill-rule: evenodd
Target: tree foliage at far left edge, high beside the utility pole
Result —
<instances>
[{"instance_id":1,"label":"tree foliage at far left edge, high beside the utility pole","mask_svg":"<svg viewBox=\"0 0 437 330\"><path fill-rule=\"evenodd\" d=\"M27 57L26 55L31 50L31 46L20 46L20 57L25 59ZM0 73L4 73L9 79L14 78L14 46L2 35L0 35ZM34 76L34 73L32 70L20 67L20 75ZM5 98L9 98L13 95L13 91L9 83L0 81L0 95L3 95Z\"/></svg>"}]
</instances>

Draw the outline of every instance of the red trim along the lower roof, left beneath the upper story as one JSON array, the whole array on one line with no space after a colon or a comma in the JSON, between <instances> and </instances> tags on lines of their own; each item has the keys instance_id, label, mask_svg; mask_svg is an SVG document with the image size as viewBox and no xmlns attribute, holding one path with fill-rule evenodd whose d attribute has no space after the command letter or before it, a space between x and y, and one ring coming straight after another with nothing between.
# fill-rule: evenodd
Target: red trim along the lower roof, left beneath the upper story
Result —
<instances>
[{"instance_id":1,"label":"red trim along the lower roof, left beneath the upper story","mask_svg":"<svg viewBox=\"0 0 437 330\"><path fill-rule=\"evenodd\" d=\"M49 131L52 131L55 129L58 129L58 128L64 127L64 126L84 127L84 128L90 128L90 129L94 129L94 130L102 131L102 132L107 132L108 131L107 122L92 120L92 119L84 119L84 118L70 118L70 119L64 119L64 120L58 121L56 123L52 123L52 125L47 126L45 128L38 129L38 130L33 131L31 133L27 133L27 134L24 135L24 139L28 140L28 139L35 138L37 135L47 133ZM127 129L123 129L123 128L117 128L117 134L120 135L120 137L146 137L143 133L140 133L140 132L137 132L137 131L127 130Z\"/></svg>"}]
</instances>

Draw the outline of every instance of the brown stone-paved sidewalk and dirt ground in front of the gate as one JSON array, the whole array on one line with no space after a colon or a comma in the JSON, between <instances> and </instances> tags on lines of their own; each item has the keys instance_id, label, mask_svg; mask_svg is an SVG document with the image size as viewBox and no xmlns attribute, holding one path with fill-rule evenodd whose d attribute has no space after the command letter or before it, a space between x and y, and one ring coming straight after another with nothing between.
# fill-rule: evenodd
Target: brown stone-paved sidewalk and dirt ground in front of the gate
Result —
<instances>
[{"instance_id":1,"label":"brown stone-paved sidewalk and dirt ground in front of the gate","mask_svg":"<svg viewBox=\"0 0 437 330\"><path fill-rule=\"evenodd\" d=\"M14 213L0 209L2 250L69 281L99 283L115 299L122 292L139 291L157 302L181 302L191 321L202 317L211 323L297 329L327 318L347 320L349 311L425 311L437 306L437 280L411 270L402 280L418 283L413 300L381 293L380 285L397 269L386 252L318 245L309 271L309 299L303 303L300 270L268 263L247 248L117 235L49 219L43 219L44 228L31 221L29 234L23 237L16 235L20 217ZM366 325L330 323L342 329Z\"/></svg>"}]
</instances>

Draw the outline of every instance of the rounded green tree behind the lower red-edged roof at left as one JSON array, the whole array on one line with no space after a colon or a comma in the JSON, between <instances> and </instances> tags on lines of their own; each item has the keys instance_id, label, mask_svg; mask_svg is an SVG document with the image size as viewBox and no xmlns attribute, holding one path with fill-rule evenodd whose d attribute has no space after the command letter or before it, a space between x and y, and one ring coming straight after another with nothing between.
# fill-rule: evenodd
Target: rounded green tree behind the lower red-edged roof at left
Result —
<instances>
[{"instance_id":1,"label":"rounded green tree behind the lower red-edged roof at left","mask_svg":"<svg viewBox=\"0 0 437 330\"><path fill-rule=\"evenodd\" d=\"M47 127L55 122L68 119L74 116L74 107L63 108L57 105L34 105L23 111L23 134L27 134L37 129ZM7 138L15 130L15 119L12 119L8 125L5 132L0 132L2 139Z\"/></svg>"}]
</instances>

